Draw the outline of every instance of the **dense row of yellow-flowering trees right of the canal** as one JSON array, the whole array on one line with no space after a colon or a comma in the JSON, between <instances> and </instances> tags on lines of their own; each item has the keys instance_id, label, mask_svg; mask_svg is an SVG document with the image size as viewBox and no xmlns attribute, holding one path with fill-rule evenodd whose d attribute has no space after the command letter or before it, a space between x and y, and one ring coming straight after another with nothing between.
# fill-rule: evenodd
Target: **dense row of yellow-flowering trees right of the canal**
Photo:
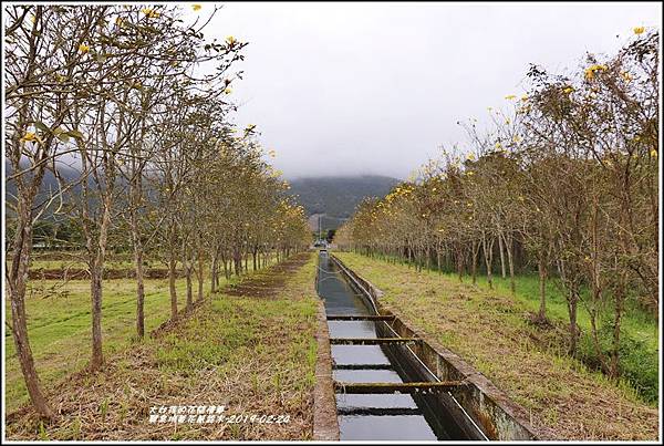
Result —
<instances>
[{"instance_id":1,"label":"dense row of yellow-flowering trees right of the canal","mask_svg":"<svg viewBox=\"0 0 664 446\"><path fill-rule=\"evenodd\" d=\"M515 269L531 266L542 321L554 274L568 303L570 353L582 303L601 367L618 376L626 299L658 310L658 33L634 32L603 62L588 55L580 75L531 66L530 91L507 96L509 112L489 110L489 131L463 124L466 155L444 149L415 180L365 201L336 241L419 266L452 262L473 282L483 268L489 286L499 257L512 291ZM598 334L606 312L608 354Z\"/></svg>"}]
</instances>

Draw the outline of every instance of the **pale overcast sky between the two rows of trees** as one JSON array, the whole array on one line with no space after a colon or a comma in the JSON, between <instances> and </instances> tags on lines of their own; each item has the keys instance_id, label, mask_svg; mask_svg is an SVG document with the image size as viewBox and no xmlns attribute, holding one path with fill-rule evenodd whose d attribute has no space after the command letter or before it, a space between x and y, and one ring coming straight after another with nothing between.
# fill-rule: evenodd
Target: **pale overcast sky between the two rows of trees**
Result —
<instances>
[{"instance_id":1,"label":"pale overcast sky between the two rows of trees","mask_svg":"<svg viewBox=\"0 0 664 446\"><path fill-rule=\"evenodd\" d=\"M249 42L236 122L257 124L286 177L405 178L464 142L457 121L521 93L529 63L572 69L661 14L654 2L225 3L206 37Z\"/></svg>"}]
</instances>

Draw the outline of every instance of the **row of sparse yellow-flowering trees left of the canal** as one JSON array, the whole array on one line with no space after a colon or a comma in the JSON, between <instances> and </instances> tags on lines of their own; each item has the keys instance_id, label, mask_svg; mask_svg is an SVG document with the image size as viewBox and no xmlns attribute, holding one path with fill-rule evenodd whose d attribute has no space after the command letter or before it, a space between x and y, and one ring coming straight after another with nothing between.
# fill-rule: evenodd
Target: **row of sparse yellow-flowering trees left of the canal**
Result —
<instances>
[{"instance_id":1,"label":"row of sparse yellow-flowering trees left of the canal","mask_svg":"<svg viewBox=\"0 0 664 446\"><path fill-rule=\"evenodd\" d=\"M136 335L143 338L146 256L168 266L186 303L229 276L305 246L301 207L264 160L255 127L228 122L228 95L246 43L207 41L217 12L185 23L183 7L10 6L6 8L6 283L11 329L29 395L53 418L39 384L25 323L35 224L70 221L90 272L92 356L102 353L107 251L128 246L136 278ZM189 7L187 7L189 8ZM193 6L199 11L200 6ZM55 181L45 187L44 178ZM55 186L54 186L55 185ZM242 268L242 260L245 267ZM181 272L178 265L181 265Z\"/></svg>"}]
</instances>

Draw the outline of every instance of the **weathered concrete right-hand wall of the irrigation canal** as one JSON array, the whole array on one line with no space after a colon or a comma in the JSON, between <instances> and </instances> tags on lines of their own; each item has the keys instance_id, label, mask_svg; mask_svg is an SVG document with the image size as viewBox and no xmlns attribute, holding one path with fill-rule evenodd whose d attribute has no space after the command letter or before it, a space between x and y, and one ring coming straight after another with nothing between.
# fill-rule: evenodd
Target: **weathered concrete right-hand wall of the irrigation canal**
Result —
<instances>
[{"instance_id":1,"label":"weathered concrete right-hand wall of the irrigation canal","mask_svg":"<svg viewBox=\"0 0 664 446\"><path fill-rule=\"evenodd\" d=\"M454 397L464 411L481 428L489 439L535 440L553 438L547 428L535 428L529 415L507 394L496 387L486 376L476 371L456 353L426 339L418 330L405 323L398 314L385 309L381 303L384 293L369 280L349 269L336 257L331 256L339 268L373 300L382 315L394 315L393 330L402 338L419 338L411 349L417 359L440 381L463 381L467 385L455 391Z\"/></svg>"}]
</instances>

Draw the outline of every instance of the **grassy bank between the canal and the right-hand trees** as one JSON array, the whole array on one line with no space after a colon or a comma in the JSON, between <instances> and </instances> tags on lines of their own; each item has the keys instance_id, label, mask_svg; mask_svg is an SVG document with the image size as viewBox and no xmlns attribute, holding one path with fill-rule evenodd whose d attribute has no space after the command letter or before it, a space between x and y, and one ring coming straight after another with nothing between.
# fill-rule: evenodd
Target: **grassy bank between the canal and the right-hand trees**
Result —
<instances>
[{"instance_id":1,"label":"grassy bank between the canal and the right-hand trees","mask_svg":"<svg viewBox=\"0 0 664 446\"><path fill-rule=\"evenodd\" d=\"M557 323L542 329L529 322L528 313L538 302L537 287L535 293L528 291L531 278L521 280L511 297L501 279L489 291L481 281L459 283L453 274L417 272L355 253L338 256L385 292L385 304L460 354L529 411L533 425L548 426L567 439L657 438L657 409L652 404L631 385L609 381L561 354L566 338ZM549 315L556 322L566 313L562 298L550 291ZM625 332L656 348L656 325L645 322L626 322Z\"/></svg>"}]
</instances>

